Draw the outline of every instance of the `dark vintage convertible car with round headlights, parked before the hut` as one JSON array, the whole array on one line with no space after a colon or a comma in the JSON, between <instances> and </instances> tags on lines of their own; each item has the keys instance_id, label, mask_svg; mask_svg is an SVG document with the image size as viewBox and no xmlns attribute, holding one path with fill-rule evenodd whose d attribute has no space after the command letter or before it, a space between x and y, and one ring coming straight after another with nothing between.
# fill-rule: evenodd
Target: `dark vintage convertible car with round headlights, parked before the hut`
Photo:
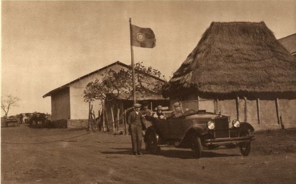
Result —
<instances>
[{"instance_id":1,"label":"dark vintage convertible car with round headlights, parked before the hut","mask_svg":"<svg viewBox=\"0 0 296 184\"><path fill-rule=\"evenodd\" d=\"M145 134L146 150L152 154L161 147L191 148L196 158L205 150L239 147L243 156L251 149L251 132L254 128L248 122L229 116L206 112L205 110L183 111L179 117L152 119L152 126Z\"/></svg>"}]
</instances>

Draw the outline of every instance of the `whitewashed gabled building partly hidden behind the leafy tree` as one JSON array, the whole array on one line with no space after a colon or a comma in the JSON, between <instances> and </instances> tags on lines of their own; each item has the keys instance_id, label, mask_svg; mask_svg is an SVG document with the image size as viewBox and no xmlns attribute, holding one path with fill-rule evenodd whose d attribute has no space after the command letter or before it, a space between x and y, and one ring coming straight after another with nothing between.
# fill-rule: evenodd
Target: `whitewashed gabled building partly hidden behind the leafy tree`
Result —
<instances>
[{"instance_id":1,"label":"whitewashed gabled building partly hidden behind the leafy tree","mask_svg":"<svg viewBox=\"0 0 296 184\"><path fill-rule=\"evenodd\" d=\"M101 78L102 74L104 74L107 70L112 69L114 71L119 71L123 68L131 70L131 67L129 65L117 61L106 67L103 67L94 72L79 77L43 95L43 98L47 96L51 97L51 119L67 119L68 127L70 128L84 127L87 123L89 116L89 104L86 103L83 98L83 91L85 90L86 85L91 81L94 81L96 78ZM143 74L148 75L151 80L156 80L159 83L165 83L165 80L162 80L158 77L146 73ZM125 99L124 96L119 96L118 98L121 101L128 101L129 103L125 104L132 106L132 99ZM140 101L147 101L149 102L149 104L152 104L153 100L162 100L162 102L167 101L168 104L168 100L164 100L164 98L161 95L145 96L144 98L138 97L137 99ZM116 101L118 101L118 99ZM98 113L98 111L101 110L101 101L96 100L92 103L92 105L95 113ZM157 104L153 105L153 107L156 105ZM127 107L124 107L122 105L121 108L121 112L123 112L124 109L126 109Z\"/></svg>"}]
</instances>

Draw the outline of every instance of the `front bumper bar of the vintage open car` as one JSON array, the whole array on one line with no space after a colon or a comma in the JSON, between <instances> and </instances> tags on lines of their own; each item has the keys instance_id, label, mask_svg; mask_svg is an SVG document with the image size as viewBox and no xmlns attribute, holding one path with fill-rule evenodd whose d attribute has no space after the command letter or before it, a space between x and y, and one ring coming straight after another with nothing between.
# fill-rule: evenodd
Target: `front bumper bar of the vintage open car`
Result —
<instances>
[{"instance_id":1,"label":"front bumper bar of the vintage open car","mask_svg":"<svg viewBox=\"0 0 296 184\"><path fill-rule=\"evenodd\" d=\"M205 139L204 140L204 145L217 145L217 144L229 144L229 143L238 143L238 142L249 142L249 141L254 140L254 139L255 139L254 136Z\"/></svg>"}]
</instances>

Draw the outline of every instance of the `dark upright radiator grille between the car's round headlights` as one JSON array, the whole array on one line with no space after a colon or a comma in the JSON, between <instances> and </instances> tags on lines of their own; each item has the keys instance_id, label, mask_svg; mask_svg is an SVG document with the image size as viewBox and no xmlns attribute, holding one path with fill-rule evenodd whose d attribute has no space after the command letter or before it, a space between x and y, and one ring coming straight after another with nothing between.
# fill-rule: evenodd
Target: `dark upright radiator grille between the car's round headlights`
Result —
<instances>
[{"instance_id":1,"label":"dark upright radiator grille between the car's round headlights","mask_svg":"<svg viewBox=\"0 0 296 184\"><path fill-rule=\"evenodd\" d=\"M228 118L216 118L215 120L215 138L229 137Z\"/></svg>"}]
</instances>

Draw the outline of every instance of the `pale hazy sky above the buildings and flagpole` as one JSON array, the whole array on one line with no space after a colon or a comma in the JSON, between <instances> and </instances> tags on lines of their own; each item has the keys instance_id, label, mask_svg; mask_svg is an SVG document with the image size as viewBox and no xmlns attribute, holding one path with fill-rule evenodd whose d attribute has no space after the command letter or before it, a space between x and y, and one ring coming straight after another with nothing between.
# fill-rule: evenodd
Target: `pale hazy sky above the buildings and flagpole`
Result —
<instances>
[{"instance_id":1,"label":"pale hazy sky above the buildings and flagpole","mask_svg":"<svg viewBox=\"0 0 296 184\"><path fill-rule=\"evenodd\" d=\"M117 60L129 65L129 17L156 37L152 49L133 47L135 62L167 80L212 22L296 33L296 1L2 1L1 12L1 95L21 99L8 115L50 113L47 92Z\"/></svg>"}]
</instances>

